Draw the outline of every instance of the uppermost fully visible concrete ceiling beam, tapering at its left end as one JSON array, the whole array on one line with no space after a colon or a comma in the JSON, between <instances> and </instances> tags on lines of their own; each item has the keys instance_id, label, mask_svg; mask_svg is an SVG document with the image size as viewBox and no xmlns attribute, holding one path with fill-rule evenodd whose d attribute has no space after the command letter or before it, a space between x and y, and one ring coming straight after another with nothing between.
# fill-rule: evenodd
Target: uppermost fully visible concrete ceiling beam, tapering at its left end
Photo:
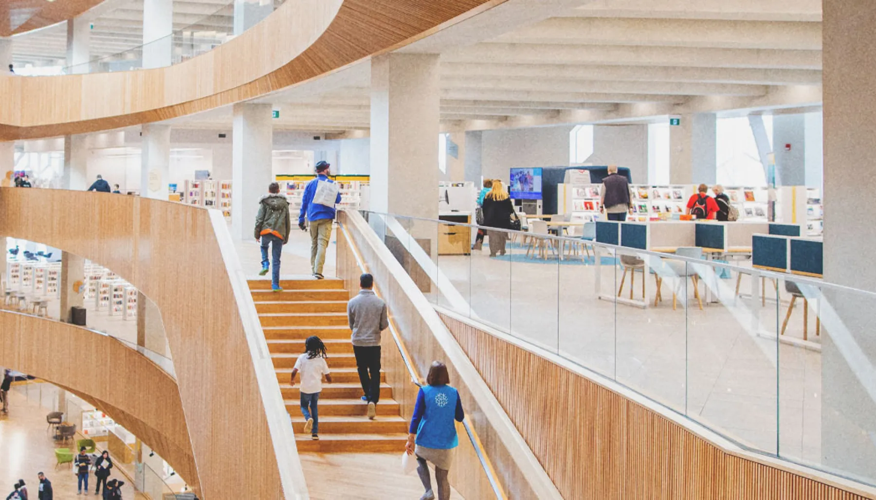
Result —
<instances>
[{"instance_id":1,"label":"uppermost fully visible concrete ceiling beam, tapering at its left end","mask_svg":"<svg viewBox=\"0 0 876 500\"><path fill-rule=\"evenodd\" d=\"M491 40L579 46L821 50L820 23L659 18L550 18Z\"/></svg>"}]
</instances>

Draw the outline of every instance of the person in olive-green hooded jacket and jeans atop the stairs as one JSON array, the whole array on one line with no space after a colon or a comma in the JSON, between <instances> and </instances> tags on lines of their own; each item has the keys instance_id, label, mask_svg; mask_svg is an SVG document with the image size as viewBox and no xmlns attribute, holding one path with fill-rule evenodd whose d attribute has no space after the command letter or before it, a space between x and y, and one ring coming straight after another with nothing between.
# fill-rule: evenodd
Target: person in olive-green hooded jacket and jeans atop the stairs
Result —
<instances>
[{"instance_id":1,"label":"person in olive-green hooded jacket and jeans atop the stairs","mask_svg":"<svg viewBox=\"0 0 876 500\"><path fill-rule=\"evenodd\" d=\"M268 245L271 245L271 289L282 292L279 287L279 259L283 254L283 245L289 241L289 201L279 194L279 184L272 182L268 186L268 194L258 201L256 216L256 241L262 246L262 271L259 276L268 273Z\"/></svg>"}]
</instances>

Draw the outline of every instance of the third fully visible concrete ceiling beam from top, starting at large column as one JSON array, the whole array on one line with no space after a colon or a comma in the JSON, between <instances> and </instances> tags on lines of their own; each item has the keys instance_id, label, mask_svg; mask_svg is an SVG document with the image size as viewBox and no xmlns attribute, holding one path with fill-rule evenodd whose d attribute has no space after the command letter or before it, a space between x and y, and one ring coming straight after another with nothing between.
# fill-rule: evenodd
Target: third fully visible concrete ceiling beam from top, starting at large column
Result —
<instances>
[{"instance_id":1,"label":"third fully visible concrete ceiling beam from top, starting at large column","mask_svg":"<svg viewBox=\"0 0 876 500\"><path fill-rule=\"evenodd\" d=\"M745 85L819 85L816 69L722 67L624 67L562 64L476 64L442 62L445 77L530 77L607 81L678 81Z\"/></svg>"}]
</instances>

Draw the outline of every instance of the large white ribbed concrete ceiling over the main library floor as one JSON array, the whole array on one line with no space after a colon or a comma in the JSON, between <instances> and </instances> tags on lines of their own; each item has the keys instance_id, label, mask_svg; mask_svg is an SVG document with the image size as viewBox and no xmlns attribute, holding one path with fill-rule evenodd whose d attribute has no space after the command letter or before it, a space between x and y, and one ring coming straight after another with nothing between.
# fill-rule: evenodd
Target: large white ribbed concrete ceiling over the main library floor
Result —
<instances>
[{"instance_id":1,"label":"large white ribbed concrete ceiling over the main library floor","mask_svg":"<svg viewBox=\"0 0 876 500\"><path fill-rule=\"evenodd\" d=\"M821 0L509 0L401 49L442 54L442 121L491 128L821 102ZM258 102L367 129L367 62ZM230 127L230 109L173 120Z\"/></svg>"}]
</instances>

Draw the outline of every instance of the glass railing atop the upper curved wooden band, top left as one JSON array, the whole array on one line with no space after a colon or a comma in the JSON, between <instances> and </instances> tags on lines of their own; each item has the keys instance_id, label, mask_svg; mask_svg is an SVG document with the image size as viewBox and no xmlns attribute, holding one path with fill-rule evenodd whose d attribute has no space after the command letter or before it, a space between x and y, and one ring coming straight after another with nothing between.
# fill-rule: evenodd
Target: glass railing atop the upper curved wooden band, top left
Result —
<instances>
[{"instance_id":1,"label":"glass railing atop the upper curved wooden band, top left","mask_svg":"<svg viewBox=\"0 0 876 500\"><path fill-rule=\"evenodd\" d=\"M274 9L284 2L285 0L274 0ZM63 73L131 71L144 67L171 66L193 59L235 38L234 8L234 2L230 2L191 25L173 30L166 37L131 46L127 50L95 58L87 63L64 67Z\"/></svg>"}]
</instances>

